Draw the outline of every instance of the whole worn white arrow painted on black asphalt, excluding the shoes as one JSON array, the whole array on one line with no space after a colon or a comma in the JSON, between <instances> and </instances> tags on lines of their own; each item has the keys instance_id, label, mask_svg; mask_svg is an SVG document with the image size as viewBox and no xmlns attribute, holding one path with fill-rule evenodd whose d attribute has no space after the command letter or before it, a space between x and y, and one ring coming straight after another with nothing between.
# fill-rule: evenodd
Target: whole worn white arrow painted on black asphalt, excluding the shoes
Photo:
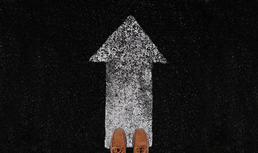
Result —
<instances>
[{"instance_id":1,"label":"whole worn white arrow painted on black asphalt, excluding the shoes","mask_svg":"<svg viewBox=\"0 0 258 153\"><path fill-rule=\"evenodd\" d=\"M106 62L105 147L110 148L112 133L122 128L127 147L133 134L143 128L152 145L152 63L166 63L149 36L133 16L108 37L90 61Z\"/></svg>"}]
</instances>

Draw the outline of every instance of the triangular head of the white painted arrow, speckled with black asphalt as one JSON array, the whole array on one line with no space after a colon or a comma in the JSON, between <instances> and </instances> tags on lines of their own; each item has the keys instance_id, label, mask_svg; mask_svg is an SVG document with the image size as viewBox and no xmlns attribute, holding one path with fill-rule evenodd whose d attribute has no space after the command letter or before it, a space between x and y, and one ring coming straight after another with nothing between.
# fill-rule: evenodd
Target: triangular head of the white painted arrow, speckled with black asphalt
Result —
<instances>
[{"instance_id":1,"label":"triangular head of the white painted arrow, speckled with black asphalt","mask_svg":"<svg viewBox=\"0 0 258 153\"><path fill-rule=\"evenodd\" d=\"M90 58L93 62L111 60L166 63L166 59L133 16L128 16L124 23L108 37L97 53Z\"/></svg>"}]
</instances>

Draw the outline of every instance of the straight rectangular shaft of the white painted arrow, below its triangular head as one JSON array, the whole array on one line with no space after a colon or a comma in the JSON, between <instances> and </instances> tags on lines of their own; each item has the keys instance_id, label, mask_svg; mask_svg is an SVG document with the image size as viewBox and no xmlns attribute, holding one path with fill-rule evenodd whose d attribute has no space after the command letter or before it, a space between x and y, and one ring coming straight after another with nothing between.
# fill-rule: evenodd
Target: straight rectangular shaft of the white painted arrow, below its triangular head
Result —
<instances>
[{"instance_id":1,"label":"straight rectangular shaft of the white painted arrow, below its triangular head","mask_svg":"<svg viewBox=\"0 0 258 153\"><path fill-rule=\"evenodd\" d=\"M115 129L126 133L127 147L132 147L136 129L147 132L152 145L152 64L108 62L106 65L105 147L110 147Z\"/></svg>"}]
</instances>

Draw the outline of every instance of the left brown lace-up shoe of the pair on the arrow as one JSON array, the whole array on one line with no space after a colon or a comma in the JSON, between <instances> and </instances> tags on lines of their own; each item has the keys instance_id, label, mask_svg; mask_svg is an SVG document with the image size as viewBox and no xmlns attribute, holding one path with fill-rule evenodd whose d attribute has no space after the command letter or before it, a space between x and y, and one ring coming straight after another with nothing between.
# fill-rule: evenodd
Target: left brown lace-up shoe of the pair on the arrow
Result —
<instances>
[{"instance_id":1,"label":"left brown lace-up shoe of the pair on the arrow","mask_svg":"<svg viewBox=\"0 0 258 153\"><path fill-rule=\"evenodd\" d=\"M111 153L126 153L126 137L121 128L116 129L112 134L110 151Z\"/></svg>"}]
</instances>

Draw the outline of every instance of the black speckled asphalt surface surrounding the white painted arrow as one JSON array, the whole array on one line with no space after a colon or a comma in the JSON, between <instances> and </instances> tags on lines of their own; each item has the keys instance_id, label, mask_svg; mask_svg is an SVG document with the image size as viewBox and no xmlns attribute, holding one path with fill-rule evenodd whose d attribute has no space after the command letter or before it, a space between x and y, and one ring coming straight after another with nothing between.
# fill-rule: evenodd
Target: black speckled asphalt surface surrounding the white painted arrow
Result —
<instances>
[{"instance_id":1,"label":"black speckled asphalt surface surrounding the white painted arrow","mask_svg":"<svg viewBox=\"0 0 258 153\"><path fill-rule=\"evenodd\" d=\"M153 68L151 152L257 152L257 1L0 2L0 152L106 152L105 63L127 16ZM127 152L132 152L128 149Z\"/></svg>"}]
</instances>

